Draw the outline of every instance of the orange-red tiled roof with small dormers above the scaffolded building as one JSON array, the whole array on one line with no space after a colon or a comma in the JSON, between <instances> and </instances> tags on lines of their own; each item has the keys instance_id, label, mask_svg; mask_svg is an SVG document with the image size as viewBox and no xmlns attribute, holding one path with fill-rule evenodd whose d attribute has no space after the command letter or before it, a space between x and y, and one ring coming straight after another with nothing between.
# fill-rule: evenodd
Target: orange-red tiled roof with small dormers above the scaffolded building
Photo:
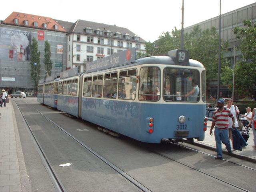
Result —
<instances>
[{"instance_id":1,"label":"orange-red tiled roof with small dormers above the scaffolded building","mask_svg":"<svg viewBox=\"0 0 256 192\"><path fill-rule=\"evenodd\" d=\"M14 23L14 19L18 19L18 24ZM24 21L28 21L28 25L24 24ZM38 22L38 27L34 26L34 22ZM47 28L44 28L43 24L47 24ZM12 12L4 21L3 24L11 24L11 25L18 25L18 26L25 26L30 28L38 28L44 30L53 30L59 32L67 32L67 30L62 27L58 22L53 20L50 17L38 16L38 15L31 15L26 13L20 12ZM55 25L58 25L58 30L55 30Z\"/></svg>"}]
</instances>

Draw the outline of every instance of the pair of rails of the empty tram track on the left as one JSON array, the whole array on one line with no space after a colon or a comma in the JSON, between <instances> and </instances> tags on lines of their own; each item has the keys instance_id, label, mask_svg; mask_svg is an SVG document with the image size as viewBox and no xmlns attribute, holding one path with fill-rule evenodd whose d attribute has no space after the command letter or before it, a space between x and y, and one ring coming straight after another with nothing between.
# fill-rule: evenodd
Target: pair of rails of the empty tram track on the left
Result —
<instances>
[{"instance_id":1,"label":"pair of rails of the empty tram track on the left","mask_svg":"<svg viewBox=\"0 0 256 192\"><path fill-rule=\"evenodd\" d=\"M15 101L16 102L16 101ZM24 102L24 101L22 101ZM29 103L24 102L26 104L28 104L31 108L33 108L34 110L36 110L36 112L38 112L38 114L42 115L46 120L48 120L49 122L51 122L54 126L56 126L58 129L60 129L62 132L64 132L66 135L68 135L70 138L72 138L75 142L77 142L78 144L80 144L83 148L85 148L86 150L88 150L90 153L92 153L94 156L96 156L98 159L102 160L104 163L106 163L108 166L110 166L113 170L115 170L116 172L118 172L121 176L123 176L124 178L126 178L130 183L134 184L137 188L139 188L140 190L142 190L143 192L152 192L150 189L148 189L146 186L144 186L143 184L141 184L140 182L138 182L136 179L134 179L132 176L130 176L129 174L127 174L126 172L124 172L123 170L121 170L120 168L118 168L116 165L112 164L110 161L108 161L106 158L104 158L103 156L101 156L100 154L98 154L97 152L95 152L94 150L92 150L92 148L88 147L86 144L84 144L83 142L79 141L77 138L75 138L74 136L72 136L70 133L68 133L66 130L64 130L61 126L59 126L58 124L56 124L55 122L53 122L50 118L46 117L44 114L42 114L40 111L38 111L36 108L34 108L33 106L31 106ZM17 102L16 102L17 104ZM17 104L18 106L18 104ZM60 188L62 186L62 188L60 188L60 192L66 192L64 186L61 184L61 181L58 179L58 176L56 175L56 173L54 173L53 168L50 166L50 162L49 160L47 160L46 155L44 154L42 148L40 147L40 144L38 143L38 141L36 140L36 137L34 136L34 134L32 133L32 130L28 124L28 122L26 121L26 118L24 116L24 114L22 113L22 110L19 108L23 119L25 120L27 126L29 127L29 130L31 132L31 134L33 135L33 138L36 141L36 145L40 148L40 153L42 154L42 156L45 158L46 163L47 163L47 171L50 175L54 174L54 178L51 177L52 181L56 184L59 184L56 186L56 189ZM59 186L59 187L58 187Z\"/></svg>"}]
</instances>

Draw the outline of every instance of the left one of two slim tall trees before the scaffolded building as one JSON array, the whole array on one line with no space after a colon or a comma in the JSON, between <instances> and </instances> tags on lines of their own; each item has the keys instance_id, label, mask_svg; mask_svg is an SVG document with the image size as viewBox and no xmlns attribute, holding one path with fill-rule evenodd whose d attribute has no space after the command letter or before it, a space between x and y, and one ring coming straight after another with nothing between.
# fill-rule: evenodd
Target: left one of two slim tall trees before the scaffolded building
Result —
<instances>
[{"instance_id":1,"label":"left one of two slim tall trees before the scaffolded building","mask_svg":"<svg viewBox=\"0 0 256 192\"><path fill-rule=\"evenodd\" d=\"M36 38L32 38L32 44L30 45L31 58L30 58L30 68L31 68L31 78L36 90L36 95L38 91L38 81L40 79L41 65L40 65L40 52L38 52L38 42Z\"/></svg>"}]
</instances>

